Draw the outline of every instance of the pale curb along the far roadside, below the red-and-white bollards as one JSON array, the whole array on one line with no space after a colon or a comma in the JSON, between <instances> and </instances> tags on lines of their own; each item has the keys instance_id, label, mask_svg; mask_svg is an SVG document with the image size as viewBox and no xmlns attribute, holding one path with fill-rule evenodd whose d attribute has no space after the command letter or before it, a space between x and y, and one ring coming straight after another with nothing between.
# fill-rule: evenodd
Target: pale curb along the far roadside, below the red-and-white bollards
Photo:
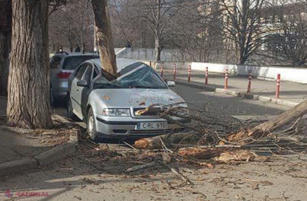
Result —
<instances>
[{"instance_id":1,"label":"pale curb along the far roadside, below the red-and-white bollards","mask_svg":"<svg viewBox=\"0 0 307 201\"><path fill-rule=\"evenodd\" d=\"M271 102L277 105L283 105L283 106L288 106L288 107L294 107L299 104L299 103L292 102L292 101L281 100L281 99L271 98L267 96L259 96L259 95L251 94L251 93L243 93L240 91L234 91L234 90L229 90L229 89L215 88L212 86L205 86L205 85L197 84L197 83L189 83L189 82L181 81L181 80L174 80L174 79L167 79L167 80L175 81L179 85L190 86L194 88L204 89L207 91L214 91L216 93L229 94L229 95L237 96L237 97L244 98L244 99L258 100L261 102Z\"/></svg>"}]
</instances>

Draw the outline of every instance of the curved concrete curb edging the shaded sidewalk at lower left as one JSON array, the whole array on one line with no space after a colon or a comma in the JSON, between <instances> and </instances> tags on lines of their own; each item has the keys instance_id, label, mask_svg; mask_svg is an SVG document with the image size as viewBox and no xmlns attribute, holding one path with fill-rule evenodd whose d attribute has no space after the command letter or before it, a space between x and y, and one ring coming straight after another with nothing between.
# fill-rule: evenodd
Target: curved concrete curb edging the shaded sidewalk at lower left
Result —
<instances>
[{"instance_id":1,"label":"curved concrete curb edging the shaded sidewalk at lower left","mask_svg":"<svg viewBox=\"0 0 307 201\"><path fill-rule=\"evenodd\" d=\"M70 134L69 141L51 148L33 158L20 159L0 163L0 176L14 174L21 171L33 170L38 167L46 167L55 161L65 159L73 154L78 145L78 136Z\"/></svg>"}]
</instances>

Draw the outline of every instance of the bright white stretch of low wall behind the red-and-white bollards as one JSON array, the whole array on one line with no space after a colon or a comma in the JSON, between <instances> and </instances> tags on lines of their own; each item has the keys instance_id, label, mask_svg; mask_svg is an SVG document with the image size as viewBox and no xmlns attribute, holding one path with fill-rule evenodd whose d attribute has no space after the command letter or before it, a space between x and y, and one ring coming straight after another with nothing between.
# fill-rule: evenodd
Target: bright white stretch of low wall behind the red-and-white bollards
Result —
<instances>
[{"instance_id":1,"label":"bright white stretch of low wall behind the red-and-white bollards","mask_svg":"<svg viewBox=\"0 0 307 201\"><path fill-rule=\"evenodd\" d=\"M304 68L285 68L285 67L267 67L267 66L240 66L226 64L212 64L192 62L192 70L205 71L208 67L209 72L225 73L228 69L233 75L248 75L249 70L252 70L253 76L266 79L276 79L277 74L281 75L281 80L293 81L299 83L307 83L307 69Z\"/></svg>"}]
</instances>

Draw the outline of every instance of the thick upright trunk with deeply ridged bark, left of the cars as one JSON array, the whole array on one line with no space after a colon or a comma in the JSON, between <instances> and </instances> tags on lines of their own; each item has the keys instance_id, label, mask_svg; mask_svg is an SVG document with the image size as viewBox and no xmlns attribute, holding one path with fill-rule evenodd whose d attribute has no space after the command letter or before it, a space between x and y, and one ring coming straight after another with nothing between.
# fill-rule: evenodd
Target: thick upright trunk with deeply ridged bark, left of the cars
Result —
<instances>
[{"instance_id":1,"label":"thick upright trunk with deeply ridged bark, left of the cars","mask_svg":"<svg viewBox=\"0 0 307 201\"><path fill-rule=\"evenodd\" d=\"M51 127L49 103L48 0L13 0L8 78L8 123Z\"/></svg>"}]
</instances>

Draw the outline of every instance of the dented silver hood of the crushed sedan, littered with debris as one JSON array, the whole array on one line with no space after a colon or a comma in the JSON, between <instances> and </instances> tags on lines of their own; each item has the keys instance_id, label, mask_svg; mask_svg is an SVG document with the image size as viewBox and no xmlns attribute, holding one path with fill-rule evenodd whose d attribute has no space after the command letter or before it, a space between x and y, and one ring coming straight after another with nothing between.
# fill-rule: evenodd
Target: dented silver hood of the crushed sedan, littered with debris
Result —
<instances>
[{"instance_id":1,"label":"dented silver hood of the crushed sedan, littered with debris","mask_svg":"<svg viewBox=\"0 0 307 201\"><path fill-rule=\"evenodd\" d=\"M94 96L94 97L93 97ZM170 105L185 102L171 89L95 89L91 98L99 99L106 107L146 107L153 104Z\"/></svg>"}]
</instances>

